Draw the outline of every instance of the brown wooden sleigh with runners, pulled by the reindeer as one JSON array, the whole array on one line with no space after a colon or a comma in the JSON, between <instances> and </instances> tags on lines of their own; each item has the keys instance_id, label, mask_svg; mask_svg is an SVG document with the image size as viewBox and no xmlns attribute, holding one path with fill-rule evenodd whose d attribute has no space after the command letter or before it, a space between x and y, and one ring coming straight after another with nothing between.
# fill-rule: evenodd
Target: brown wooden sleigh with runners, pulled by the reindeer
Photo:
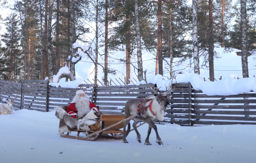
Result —
<instances>
[{"instance_id":1,"label":"brown wooden sleigh with runners, pulled by the reindeer","mask_svg":"<svg viewBox=\"0 0 256 163\"><path fill-rule=\"evenodd\" d=\"M90 125L90 132L94 133L97 132L97 134L94 134L92 137L89 138L83 138L85 135L80 135L80 133L86 133L84 130L78 130L77 128L72 129L72 132L77 132L76 136L67 134L61 134L60 137L62 138L70 138L70 139L78 139L78 140L86 140L86 141L96 141L99 138L105 138L105 139L115 139L115 140L121 140L123 137L123 122L119 123L117 125L114 125L122 120L124 120L124 115L101 115L100 119L98 119L97 122ZM110 127L111 125L114 125ZM110 128L109 128L110 127ZM104 128L108 128L102 132L99 132L100 130L103 130ZM131 130L130 122L127 125L127 129L125 129L125 135L129 134Z\"/></svg>"}]
</instances>

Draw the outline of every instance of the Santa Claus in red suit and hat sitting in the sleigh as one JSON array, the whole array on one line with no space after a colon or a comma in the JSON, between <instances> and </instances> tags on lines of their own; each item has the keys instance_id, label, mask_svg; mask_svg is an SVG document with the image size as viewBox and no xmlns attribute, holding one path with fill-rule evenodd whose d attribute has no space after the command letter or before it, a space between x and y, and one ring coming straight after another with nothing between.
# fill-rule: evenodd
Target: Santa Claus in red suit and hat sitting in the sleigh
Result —
<instances>
[{"instance_id":1,"label":"Santa Claus in red suit and hat sitting in the sleigh","mask_svg":"<svg viewBox=\"0 0 256 163\"><path fill-rule=\"evenodd\" d=\"M78 90L73 101L67 107L67 113L73 118L80 119L86 116L92 108L98 110L96 105L90 102L89 96L83 90Z\"/></svg>"}]
</instances>

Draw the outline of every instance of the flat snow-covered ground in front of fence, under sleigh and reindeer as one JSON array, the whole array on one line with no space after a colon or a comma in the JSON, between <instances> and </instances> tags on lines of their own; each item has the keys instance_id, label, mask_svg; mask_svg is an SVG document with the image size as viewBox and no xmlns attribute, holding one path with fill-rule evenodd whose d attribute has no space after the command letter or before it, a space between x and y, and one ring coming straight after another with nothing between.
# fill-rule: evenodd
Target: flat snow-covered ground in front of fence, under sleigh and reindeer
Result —
<instances>
[{"instance_id":1,"label":"flat snow-covered ground in front of fence, under sleigh and reindeer","mask_svg":"<svg viewBox=\"0 0 256 163\"><path fill-rule=\"evenodd\" d=\"M61 138L54 114L19 110L0 115L0 162L255 162L255 125L157 124L163 146L156 143L154 130L152 146L145 146L147 124L138 128L141 144L135 131L127 136L128 144L110 139L90 142Z\"/></svg>"}]
</instances>

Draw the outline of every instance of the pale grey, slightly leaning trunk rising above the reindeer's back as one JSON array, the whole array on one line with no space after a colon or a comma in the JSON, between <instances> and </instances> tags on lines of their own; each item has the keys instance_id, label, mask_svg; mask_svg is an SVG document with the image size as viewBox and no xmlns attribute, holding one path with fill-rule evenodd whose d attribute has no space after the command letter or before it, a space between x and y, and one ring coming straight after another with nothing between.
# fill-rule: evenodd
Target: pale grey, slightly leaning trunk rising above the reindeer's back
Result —
<instances>
[{"instance_id":1,"label":"pale grey, slightly leaning trunk rising above the reindeer's back","mask_svg":"<svg viewBox=\"0 0 256 163\"><path fill-rule=\"evenodd\" d=\"M134 1L134 11L135 11L135 29L136 29L137 59L138 59L138 80L141 82L141 80L143 79L143 67L142 67L142 54L141 54L138 0ZM127 77L126 80L129 80L129 78Z\"/></svg>"}]
</instances>

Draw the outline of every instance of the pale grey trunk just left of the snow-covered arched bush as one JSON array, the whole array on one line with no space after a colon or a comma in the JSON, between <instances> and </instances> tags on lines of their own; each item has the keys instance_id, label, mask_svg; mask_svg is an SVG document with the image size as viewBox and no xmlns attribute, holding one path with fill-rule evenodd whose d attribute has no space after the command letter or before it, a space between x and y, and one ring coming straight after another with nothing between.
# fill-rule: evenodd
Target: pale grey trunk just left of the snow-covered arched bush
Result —
<instances>
[{"instance_id":1,"label":"pale grey trunk just left of the snow-covered arched bush","mask_svg":"<svg viewBox=\"0 0 256 163\"><path fill-rule=\"evenodd\" d=\"M53 78L53 65L52 65L52 9L53 2L49 0L49 17L48 17L48 27L47 27L47 52L48 52L48 71L49 71L49 82L52 83Z\"/></svg>"}]
</instances>

